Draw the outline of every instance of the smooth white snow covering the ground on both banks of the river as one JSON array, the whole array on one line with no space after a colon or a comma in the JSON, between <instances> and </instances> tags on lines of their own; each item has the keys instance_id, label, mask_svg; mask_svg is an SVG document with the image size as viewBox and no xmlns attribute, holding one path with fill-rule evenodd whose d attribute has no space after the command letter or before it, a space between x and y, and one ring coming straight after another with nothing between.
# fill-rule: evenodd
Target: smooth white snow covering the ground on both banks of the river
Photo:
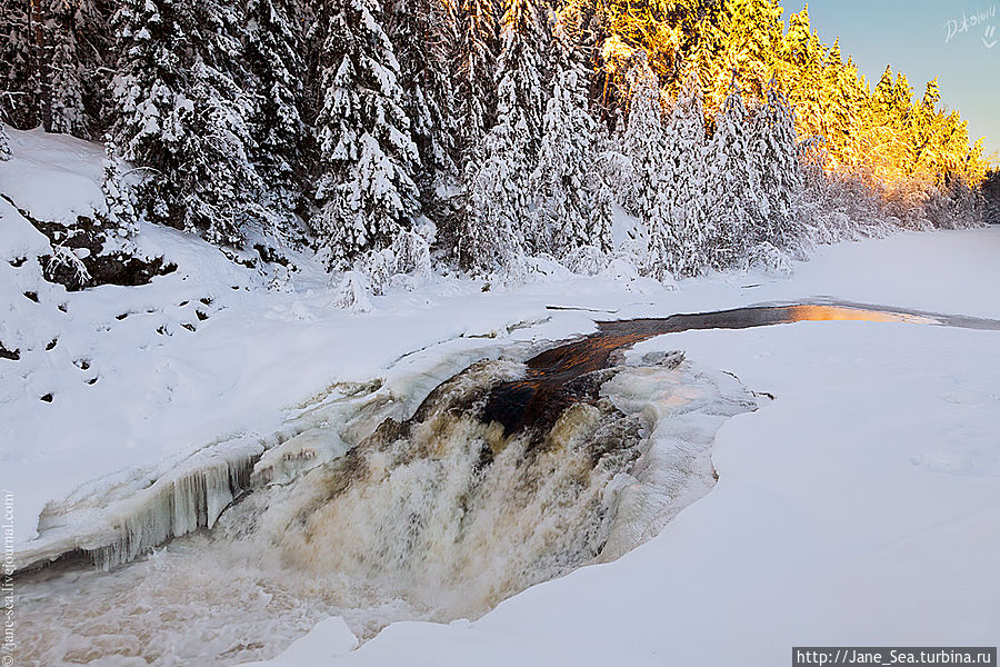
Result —
<instances>
[{"instance_id":1,"label":"smooth white snow covering the ground on both banks of the river","mask_svg":"<svg viewBox=\"0 0 1000 667\"><path fill-rule=\"evenodd\" d=\"M0 192L19 207L54 219L99 199L98 149L10 133ZM308 266L266 290L273 276L152 226L139 243L178 271L67 293L37 263L13 266L43 243L0 201L0 342L20 351L0 358L0 488L19 551L46 504L80 485L77 497L139 491L206 447L270 436L337 382L412 381L414 358L469 361L594 319L821 296L1000 319L998 228L842 243L792 277L677 290L556 273L483 292L439 278L361 315L332 308ZM1000 331L800 322L670 335L631 354L657 349L777 397L723 426L718 485L657 538L474 623L394 624L347 653L349 631L327 620L271 664L773 665L793 645L1000 643Z\"/></svg>"}]
</instances>

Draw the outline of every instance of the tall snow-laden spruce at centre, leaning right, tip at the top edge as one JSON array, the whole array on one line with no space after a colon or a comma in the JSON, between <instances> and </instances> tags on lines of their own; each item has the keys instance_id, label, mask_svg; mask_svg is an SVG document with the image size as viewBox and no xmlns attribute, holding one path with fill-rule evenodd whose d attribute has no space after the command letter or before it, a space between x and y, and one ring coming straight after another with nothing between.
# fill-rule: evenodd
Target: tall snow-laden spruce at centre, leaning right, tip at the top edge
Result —
<instances>
[{"instance_id":1,"label":"tall snow-laden spruce at centre, leaning right, tip at the top edge","mask_svg":"<svg viewBox=\"0 0 1000 667\"><path fill-rule=\"evenodd\" d=\"M471 160L459 259L474 272L513 270L531 221L530 175L544 100L536 48L542 30L534 0L508 0L497 70L497 125Z\"/></svg>"}]
</instances>

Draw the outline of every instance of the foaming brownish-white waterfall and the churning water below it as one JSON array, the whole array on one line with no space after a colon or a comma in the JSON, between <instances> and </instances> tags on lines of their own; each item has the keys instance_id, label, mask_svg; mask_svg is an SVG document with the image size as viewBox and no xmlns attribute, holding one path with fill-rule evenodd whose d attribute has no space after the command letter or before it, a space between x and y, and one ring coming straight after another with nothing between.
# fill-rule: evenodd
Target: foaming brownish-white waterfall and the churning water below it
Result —
<instances>
[{"instance_id":1,"label":"foaming brownish-white waterfall and the churning water below it","mask_svg":"<svg viewBox=\"0 0 1000 667\"><path fill-rule=\"evenodd\" d=\"M336 404L336 424L312 410L211 531L111 573L22 578L22 659L231 665L330 615L362 638L400 619L474 618L617 558L711 488L716 430L756 405L730 376L679 362L593 371L554 425L509 435L480 419L490 389L524 374L507 360L472 365L406 421L379 400L350 418Z\"/></svg>"}]
</instances>

